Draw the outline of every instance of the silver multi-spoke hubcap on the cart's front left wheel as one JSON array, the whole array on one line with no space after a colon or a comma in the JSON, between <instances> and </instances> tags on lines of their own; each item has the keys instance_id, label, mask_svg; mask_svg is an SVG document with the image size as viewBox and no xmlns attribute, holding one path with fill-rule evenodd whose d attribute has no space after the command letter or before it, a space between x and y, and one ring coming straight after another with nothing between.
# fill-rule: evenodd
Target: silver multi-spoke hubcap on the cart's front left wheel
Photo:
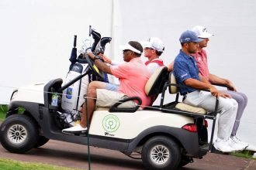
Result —
<instances>
[{"instance_id":1,"label":"silver multi-spoke hubcap on the cart's front left wheel","mask_svg":"<svg viewBox=\"0 0 256 170\"><path fill-rule=\"evenodd\" d=\"M27 132L26 128L21 124L12 125L9 130L7 137L12 144L19 145L26 140Z\"/></svg>"}]
</instances>

